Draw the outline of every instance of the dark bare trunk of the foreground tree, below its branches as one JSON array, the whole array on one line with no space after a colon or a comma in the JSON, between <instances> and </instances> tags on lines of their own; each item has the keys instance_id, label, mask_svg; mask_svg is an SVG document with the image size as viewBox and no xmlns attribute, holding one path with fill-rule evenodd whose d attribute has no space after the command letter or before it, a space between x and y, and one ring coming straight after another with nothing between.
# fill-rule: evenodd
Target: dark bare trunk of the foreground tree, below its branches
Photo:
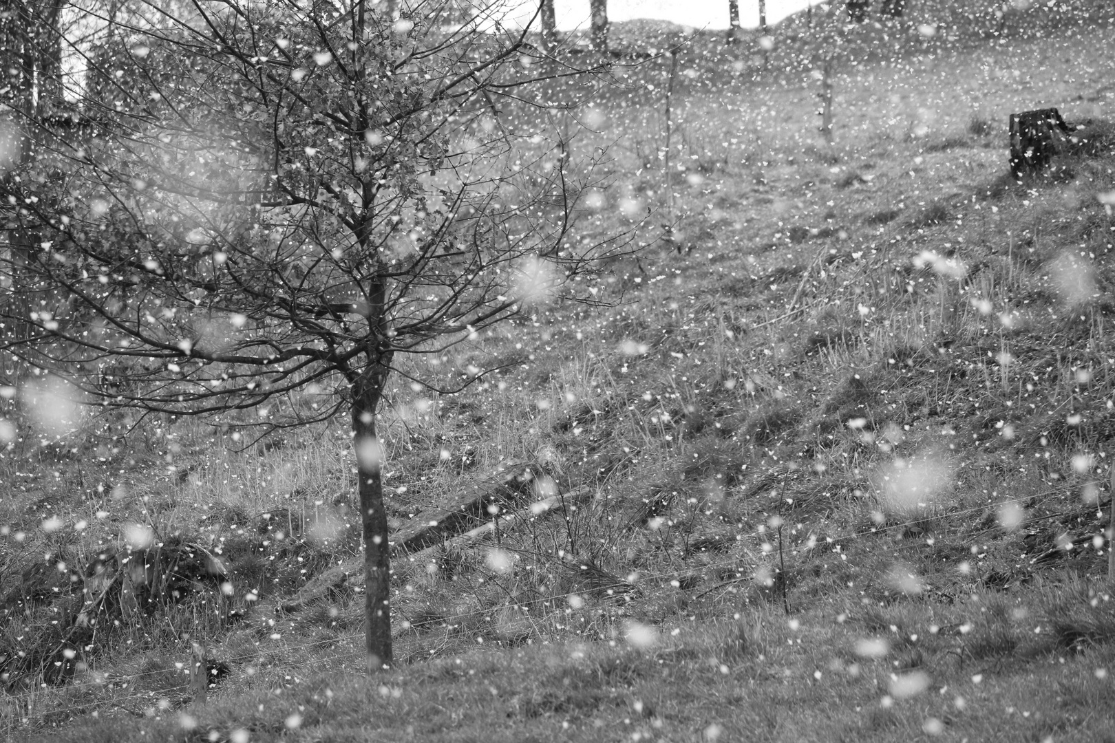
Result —
<instances>
[{"instance_id":1,"label":"dark bare trunk of the foreground tree, below its branches","mask_svg":"<svg viewBox=\"0 0 1115 743\"><path fill-rule=\"evenodd\" d=\"M365 649L369 673L390 667L392 661L390 545L381 476L384 450L376 434L376 411L388 372L386 364L371 362L351 387L352 446L363 532Z\"/></svg>"}]
</instances>

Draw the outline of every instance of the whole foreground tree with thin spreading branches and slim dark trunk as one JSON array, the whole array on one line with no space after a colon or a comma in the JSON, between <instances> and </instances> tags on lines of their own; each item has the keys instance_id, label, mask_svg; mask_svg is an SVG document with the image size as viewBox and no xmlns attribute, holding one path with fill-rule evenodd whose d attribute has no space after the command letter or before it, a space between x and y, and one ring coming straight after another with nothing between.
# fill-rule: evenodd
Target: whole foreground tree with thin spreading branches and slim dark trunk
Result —
<instances>
[{"instance_id":1,"label":"whole foreground tree with thin spreading branches and slim dark trunk","mask_svg":"<svg viewBox=\"0 0 1115 743\"><path fill-rule=\"evenodd\" d=\"M571 239L593 163L520 136L511 111L541 84L526 31L445 30L434 6L225 0L117 21L90 72L114 102L81 101L55 177L32 159L0 193L0 218L38 241L26 265L0 255L0 280L21 277L11 307L33 306L0 313L0 350L106 408L251 411L263 431L349 418L369 668L391 663L389 377L467 387L489 370L401 359L440 360L531 302L594 302L588 280L626 250ZM551 69L560 100L554 76L580 71Z\"/></svg>"}]
</instances>

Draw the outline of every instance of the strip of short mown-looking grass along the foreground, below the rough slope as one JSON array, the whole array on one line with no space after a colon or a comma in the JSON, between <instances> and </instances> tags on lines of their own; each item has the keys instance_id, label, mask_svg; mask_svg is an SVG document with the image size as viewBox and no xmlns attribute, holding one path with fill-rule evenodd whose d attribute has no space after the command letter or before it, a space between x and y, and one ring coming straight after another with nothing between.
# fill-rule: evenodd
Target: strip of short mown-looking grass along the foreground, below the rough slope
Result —
<instances>
[{"instance_id":1,"label":"strip of short mown-looking grass along the foreground, below the rough slope","mask_svg":"<svg viewBox=\"0 0 1115 743\"><path fill-rule=\"evenodd\" d=\"M1068 594L1079 589L1087 590L1076 584ZM759 608L697 625L629 624L604 643L497 651L474 643L454 657L371 680L295 672L235 698L176 712L156 707L145 720L116 716L49 734L94 742L235 741L245 740L237 737L244 732L252 741L715 740L757 733L888 741L924 733L1016 739L1036 726L1043 735L1102 736L1106 720L1087 712L1113 700L1102 672L1115 655L1109 644L1058 649L1037 606L1067 598L1047 587L1021 597L978 593L954 604L826 602L789 619Z\"/></svg>"}]
</instances>

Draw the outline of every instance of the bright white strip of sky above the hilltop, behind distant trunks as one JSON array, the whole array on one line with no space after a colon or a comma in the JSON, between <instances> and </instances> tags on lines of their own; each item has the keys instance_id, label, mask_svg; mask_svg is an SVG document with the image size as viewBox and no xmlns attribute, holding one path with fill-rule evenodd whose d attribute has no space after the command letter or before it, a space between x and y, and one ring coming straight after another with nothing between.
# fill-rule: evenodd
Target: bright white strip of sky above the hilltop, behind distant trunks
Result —
<instances>
[{"instance_id":1,"label":"bright white strip of sky above the hilltop, behind distant trunks","mask_svg":"<svg viewBox=\"0 0 1115 743\"><path fill-rule=\"evenodd\" d=\"M820 0L814 0L817 4ZM533 3L532 3L533 4ZM554 0L558 28L589 25L589 0ZM767 23L777 23L804 10L808 0L767 0ZM728 0L608 0L608 20L657 18L696 28L728 28ZM758 0L739 0L739 20L745 27L759 25Z\"/></svg>"}]
</instances>

